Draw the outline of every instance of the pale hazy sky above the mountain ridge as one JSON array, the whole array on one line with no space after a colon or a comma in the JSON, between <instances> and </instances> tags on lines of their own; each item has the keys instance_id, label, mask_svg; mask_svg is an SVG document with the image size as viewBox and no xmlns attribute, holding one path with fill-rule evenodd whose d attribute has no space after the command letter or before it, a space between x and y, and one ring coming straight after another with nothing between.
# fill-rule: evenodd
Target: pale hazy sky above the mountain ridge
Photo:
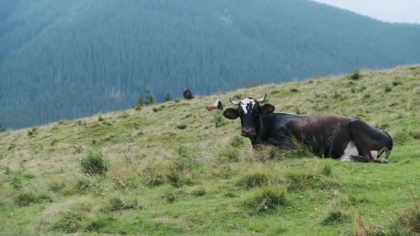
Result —
<instances>
[{"instance_id":1,"label":"pale hazy sky above the mountain ridge","mask_svg":"<svg viewBox=\"0 0 420 236\"><path fill-rule=\"evenodd\" d=\"M420 23L420 0L313 0L381 21Z\"/></svg>"}]
</instances>

